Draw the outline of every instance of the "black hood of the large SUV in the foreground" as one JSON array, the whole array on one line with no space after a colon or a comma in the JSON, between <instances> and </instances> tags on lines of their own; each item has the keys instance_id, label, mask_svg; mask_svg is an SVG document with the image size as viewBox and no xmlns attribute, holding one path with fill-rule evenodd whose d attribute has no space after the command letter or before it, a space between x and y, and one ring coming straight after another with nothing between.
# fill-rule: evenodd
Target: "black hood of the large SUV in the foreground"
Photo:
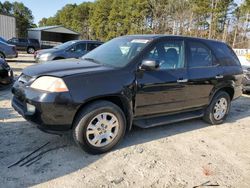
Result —
<instances>
[{"instance_id":1,"label":"black hood of the large SUV in the foreground","mask_svg":"<svg viewBox=\"0 0 250 188\"><path fill-rule=\"evenodd\" d=\"M112 69L111 67L82 59L66 59L48 61L46 63L29 66L23 70L23 74L31 77L38 77L41 75L64 77L73 74L93 73Z\"/></svg>"}]
</instances>

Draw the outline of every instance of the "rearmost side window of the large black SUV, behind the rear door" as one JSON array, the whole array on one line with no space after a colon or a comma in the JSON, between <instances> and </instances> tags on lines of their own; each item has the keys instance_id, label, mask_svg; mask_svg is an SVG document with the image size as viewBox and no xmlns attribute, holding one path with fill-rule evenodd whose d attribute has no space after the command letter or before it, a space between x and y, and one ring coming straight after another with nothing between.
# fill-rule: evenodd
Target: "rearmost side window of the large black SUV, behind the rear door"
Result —
<instances>
[{"instance_id":1,"label":"rearmost side window of the large black SUV, behind the rear door","mask_svg":"<svg viewBox=\"0 0 250 188\"><path fill-rule=\"evenodd\" d=\"M234 51L224 43L214 42L212 47L215 51L218 63L222 66L239 66L240 61Z\"/></svg>"}]
</instances>

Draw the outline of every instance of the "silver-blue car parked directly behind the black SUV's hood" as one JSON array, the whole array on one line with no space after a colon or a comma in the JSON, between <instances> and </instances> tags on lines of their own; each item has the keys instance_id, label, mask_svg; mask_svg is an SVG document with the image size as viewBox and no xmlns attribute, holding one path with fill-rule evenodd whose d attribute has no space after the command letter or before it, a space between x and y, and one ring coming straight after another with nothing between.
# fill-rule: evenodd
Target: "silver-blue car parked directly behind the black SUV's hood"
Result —
<instances>
[{"instance_id":1,"label":"silver-blue car parked directly behind the black SUV's hood","mask_svg":"<svg viewBox=\"0 0 250 188\"><path fill-rule=\"evenodd\" d=\"M73 40L51 49L39 50L35 53L36 62L45 62L59 59L79 58L103 44L100 41Z\"/></svg>"}]
</instances>

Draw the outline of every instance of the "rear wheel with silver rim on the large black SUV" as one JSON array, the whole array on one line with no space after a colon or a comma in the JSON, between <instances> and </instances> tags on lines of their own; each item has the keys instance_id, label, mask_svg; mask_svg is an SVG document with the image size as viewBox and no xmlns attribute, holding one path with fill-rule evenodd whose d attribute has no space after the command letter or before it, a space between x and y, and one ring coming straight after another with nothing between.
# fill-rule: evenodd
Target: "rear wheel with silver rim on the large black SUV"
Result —
<instances>
[{"instance_id":1,"label":"rear wheel with silver rim on the large black SUV","mask_svg":"<svg viewBox=\"0 0 250 188\"><path fill-rule=\"evenodd\" d=\"M231 98L229 94L219 91L207 107L203 119L212 125L221 124L226 119L230 106Z\"/></svg>"}]
</instances>

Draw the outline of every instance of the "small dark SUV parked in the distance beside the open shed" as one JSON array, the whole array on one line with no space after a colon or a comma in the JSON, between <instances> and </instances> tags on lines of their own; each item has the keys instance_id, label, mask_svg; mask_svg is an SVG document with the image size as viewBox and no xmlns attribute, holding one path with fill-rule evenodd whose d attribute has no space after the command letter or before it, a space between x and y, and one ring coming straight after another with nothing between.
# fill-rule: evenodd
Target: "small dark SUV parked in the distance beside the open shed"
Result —
<instances>
[{"instance_id":1,"label":"small dark SUV parked in the distance beside the open shed","mask_svg":"<svg viewBox=\"0 0 250 188\"><path fill-rule=\"evenodd\" d=\"M34 54L41 48L37 39L11 38L8 43L16 45L17 50L25 50L28 54Z\"/></svg>"}]
</instances>

